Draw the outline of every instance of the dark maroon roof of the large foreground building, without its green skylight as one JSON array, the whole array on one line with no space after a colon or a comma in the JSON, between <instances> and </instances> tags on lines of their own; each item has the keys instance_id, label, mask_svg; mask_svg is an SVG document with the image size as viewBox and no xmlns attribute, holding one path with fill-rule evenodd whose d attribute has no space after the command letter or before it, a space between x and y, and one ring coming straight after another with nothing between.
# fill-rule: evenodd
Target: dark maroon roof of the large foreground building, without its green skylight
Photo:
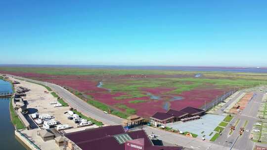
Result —
<instances>
[{"instance_id":1,"label":"dark maroon roof of the large foreground building, without its green skylight","mask_svg":"<svg viewBox=\"0 0 267 150\"><path fill-rule=\"evenodd\" d=\"M145 150L182 150L182 147L153 146L144 130L125 133L120 125L78 131L65 136L82 150L125 150L125 144L115 139L116 133L128 134L133 140L143 139Z\"/></svg>"}]
</instances>

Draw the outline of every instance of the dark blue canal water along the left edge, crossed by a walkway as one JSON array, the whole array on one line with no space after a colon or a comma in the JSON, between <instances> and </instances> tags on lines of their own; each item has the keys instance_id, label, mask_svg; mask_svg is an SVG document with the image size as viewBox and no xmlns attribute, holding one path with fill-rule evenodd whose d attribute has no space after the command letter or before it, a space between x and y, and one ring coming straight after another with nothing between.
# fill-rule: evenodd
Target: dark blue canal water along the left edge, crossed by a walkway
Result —
<instances>
[{"instance_id":1,"label":"dark blue canal water along the left edge, crossed by a walkway","mask_svg":"<svg viewBox=\"0 0 267 150\"><path fill-rule=\"evenodd\" d=\"M11 83L0 79L0 92L12 92ZM0 98L0 145L1 150L26 150L15 138L14 126L10 120L9 114L10 98Z\"/></svg>"}]
</instances>

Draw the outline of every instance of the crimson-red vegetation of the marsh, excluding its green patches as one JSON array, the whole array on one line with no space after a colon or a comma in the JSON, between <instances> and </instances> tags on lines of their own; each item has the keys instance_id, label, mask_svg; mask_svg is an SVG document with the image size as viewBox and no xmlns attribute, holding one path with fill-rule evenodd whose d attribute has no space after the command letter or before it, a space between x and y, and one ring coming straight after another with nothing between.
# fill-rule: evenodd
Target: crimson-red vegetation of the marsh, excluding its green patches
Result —
<instances>
[{"instance_id":1,"label":"crimson-red vegetation of the marsh, excluding its green patches","mask_svg":"<svg viewBox=\"0 0 267 150\"><path fill-rule=\"evenodd\" d=\"M106 105L115 107L118 110L125 111L123 109L120 109L116 107L118 104L126 105L129 108L133 108L136 110L136 114L143 116L145 118L148 118L149 116L153 115L155 112L166 112L164 110L163 106L166 102L169 102L171 104L170 108L175 110L180 110L187 106L192 106L199 108L204 105L205 101L206 103L211 102L213 99L216 98L216 96L220 96L223 94L223 90L221 89L215 89L215 87L211 88L209 85L209 88L195 88L190 91L184 91L179 95L173 95L168 94L168 92L171 92L176 87L155 87L155 88L146 88L146 87L140 87L138 90L143 93L151 93L155 96L160 96L162 100L151 100L149 96L144 96L140 98L129 98L129 99L122 99L122 100L116 100L115 97L119 97L121 95L128 95L126 92L109 92L107 89L104 88L98 88L97 85L100 80L103 78L107 80L111 80L110 78L103 77L103 76L97 76L97 75L46 75L46 74L36 74L36 73L22 73L22 72L6 72L5 74L11 74L11 75L18 75L23 77L29 77L37 80L43 80L51 83L55 83L61 86L70 87L72 89L78 90L80 92L83 92L87 95L91 95L94 100L97 100L99 102L102 102ZM147 77L166 77L166 75L147 75ZM127 75L124 77L128 77ZM173 76L172 76L173 77ZM182 76L179 76L182 77ZM105 80L105 81L106 81ZM116 77L112 78L112 82L114 80L120 81L122 83L127 83L127 79L124 80L117 80ZM134 80L133 77L131 77L131 80ZM191 84L190 81L184 81L184 84ZM182 100L174 100L172 96L181 96L184 99ZM129 103L130 101L134 100L144 100L144 103Z\"/></svg>"}]
</instances>

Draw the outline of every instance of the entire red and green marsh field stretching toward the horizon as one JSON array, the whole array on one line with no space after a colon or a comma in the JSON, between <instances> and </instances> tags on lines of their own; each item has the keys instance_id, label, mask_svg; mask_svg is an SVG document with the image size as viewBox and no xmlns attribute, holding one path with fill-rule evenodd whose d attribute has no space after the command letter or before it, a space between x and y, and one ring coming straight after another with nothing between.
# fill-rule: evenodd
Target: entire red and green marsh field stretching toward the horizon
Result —
<instances>
[{"instance_id":1,"label":"entire red and green marsh field stretching toward the horizon","mask_svg":"<svg viewBox=\"0 0 267 150\"><path fill-rule=\"evenodd\" d=\"M244 74L217 72L0 68L0 73L55 83L98 103L99 109L145 118L169 109L200 108L224 92L258 82L249 74L244 78Z\"/></svg>"}]
</instances>

